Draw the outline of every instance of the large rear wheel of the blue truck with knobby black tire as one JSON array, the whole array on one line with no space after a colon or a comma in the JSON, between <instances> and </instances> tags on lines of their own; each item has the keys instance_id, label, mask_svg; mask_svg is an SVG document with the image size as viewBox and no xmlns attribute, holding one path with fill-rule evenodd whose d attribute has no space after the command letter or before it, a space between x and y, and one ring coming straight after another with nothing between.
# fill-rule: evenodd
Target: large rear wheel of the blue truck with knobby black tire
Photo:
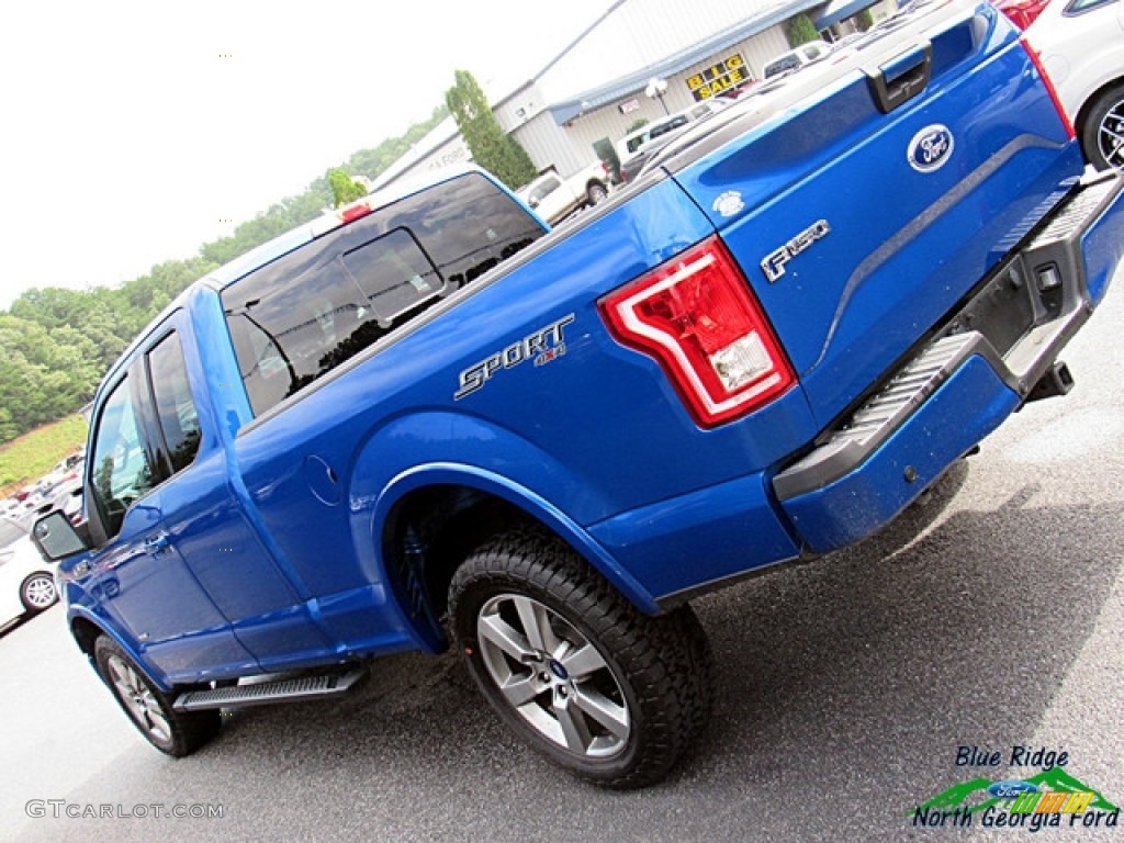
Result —
<instances>
[{"instance_id":1,"label":"large rear wheel of the blue truck with knobby black tire","mask_svg":"<svg viewBox=\"0 0 1124 843\"><path fill-rule=\"evenodd\" d=\"M694 611L644 615L544 531L513 531L469 556L450 618L499 716L596 783L660 781L709 717L710 650Z\"/></svg>"}]
</instances>

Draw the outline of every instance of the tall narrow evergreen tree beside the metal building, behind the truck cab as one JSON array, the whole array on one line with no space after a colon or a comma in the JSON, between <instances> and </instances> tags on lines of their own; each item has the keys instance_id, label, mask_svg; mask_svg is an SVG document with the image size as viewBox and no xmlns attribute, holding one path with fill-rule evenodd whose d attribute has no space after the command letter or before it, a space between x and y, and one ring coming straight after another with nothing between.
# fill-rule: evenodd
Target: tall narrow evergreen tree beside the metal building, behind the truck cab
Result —
<instances>
[{"instance_id":1,"label":"tall narrow evergreen tree beside the metal building, behind the truck cab","mask_svg":"<svg viewBox=\"0 0 1124 843\"><path fill-rule=\"evenodd\" d=\"M527 151L500 128L475 76L468 71L456 71L454 76L456 83L445 92L445 103L472 157L507 187L522 188L537 175Z\"/></svg>"}]
</instances>

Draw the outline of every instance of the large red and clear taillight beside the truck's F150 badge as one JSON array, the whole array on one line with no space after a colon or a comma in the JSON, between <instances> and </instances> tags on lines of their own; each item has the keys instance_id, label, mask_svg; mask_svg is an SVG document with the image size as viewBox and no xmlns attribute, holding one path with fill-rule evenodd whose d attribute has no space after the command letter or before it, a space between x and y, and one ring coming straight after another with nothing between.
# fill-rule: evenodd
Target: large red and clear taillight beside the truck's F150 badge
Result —
<instances>
[{"instance_id":1,"label":"large red and clear taillight beside the truck's F150 badge","mask_svg":"<svg viewBox=\"0 0 1124 843\"><path fill-rule=\"evenodd\" d=\"M614 335L651 354L695 420L713 427L796 382L733 257L710 237L601 302Z\"/></svg>"}]
</instances>

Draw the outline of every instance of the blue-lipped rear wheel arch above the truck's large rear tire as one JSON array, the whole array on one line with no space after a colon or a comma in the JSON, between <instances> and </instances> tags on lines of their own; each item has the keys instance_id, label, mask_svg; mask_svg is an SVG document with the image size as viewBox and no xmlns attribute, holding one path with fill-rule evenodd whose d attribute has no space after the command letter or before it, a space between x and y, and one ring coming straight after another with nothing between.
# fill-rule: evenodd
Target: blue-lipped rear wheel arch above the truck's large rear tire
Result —
<instances>
[{"instance_id":1,"label":"blue-lipped rear wheel arch above the truck's large rear tire","mask_svg":"<svg viewBox=\"0 0 1124 843\"><path fill-rule=\"evenodd\" d=\"M407 623L429 646L441 646L439 618L461 562L513 524L537 523L559 536L629 602L660 609L641 584L580 525L536 495L491 471L435 463L402 472L375 506L372 541Z\"/></svg>"}]
</instances>

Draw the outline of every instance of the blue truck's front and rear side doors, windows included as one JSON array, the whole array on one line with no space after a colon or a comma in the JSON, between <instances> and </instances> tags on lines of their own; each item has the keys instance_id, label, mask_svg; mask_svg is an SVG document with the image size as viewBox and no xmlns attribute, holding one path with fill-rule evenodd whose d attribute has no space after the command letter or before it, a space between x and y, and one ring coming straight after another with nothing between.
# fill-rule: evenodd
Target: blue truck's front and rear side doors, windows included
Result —
<instances>
[{"instance_id":1,"label":"blue truck's front and rear side doors, windows included","mask_svg":"<svg viewBox=\"0 0 1124 843\"><path fill-rule=\"evenodd\" d=\"M330 642L233 493L188 374L187 330L173 315L96 422L91 510L108 541L90 587L173 682L257 672L279 651L323 655Z\"/></svg>"}]
</instances>

